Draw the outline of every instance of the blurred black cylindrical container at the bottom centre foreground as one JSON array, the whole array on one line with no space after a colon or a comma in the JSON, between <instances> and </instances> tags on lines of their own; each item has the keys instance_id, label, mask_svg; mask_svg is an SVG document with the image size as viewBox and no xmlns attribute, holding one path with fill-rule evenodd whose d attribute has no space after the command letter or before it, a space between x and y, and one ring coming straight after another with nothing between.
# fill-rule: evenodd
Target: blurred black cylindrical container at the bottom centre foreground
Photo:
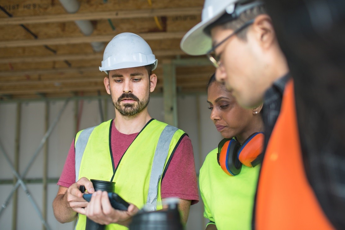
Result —
<instances>
[{"instance_id":1,"label":"blurred black cylindrical container at the bottom centre foreground","mask_svg":"<svg viewBox=\"0 0 345 230\"><path fill-rule=\"evenodd\" d=\"M177 205L169 205L166 210L139 211L129 225L130 230L182 230Z\"/></svg>"}]
</instances>

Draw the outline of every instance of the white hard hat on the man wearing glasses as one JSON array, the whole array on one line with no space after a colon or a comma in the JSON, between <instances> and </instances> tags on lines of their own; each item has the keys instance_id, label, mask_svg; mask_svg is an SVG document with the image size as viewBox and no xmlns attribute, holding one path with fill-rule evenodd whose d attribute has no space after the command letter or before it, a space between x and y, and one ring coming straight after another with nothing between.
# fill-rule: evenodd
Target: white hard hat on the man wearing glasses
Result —
<instances>
[{"instance_id":1,"label":"white hard hat on the man wearing glasses","mask_svg":"<svg viewBox=\"0 0 345 230\"><path fill-rule=\"evenodd\" d=\"M237 7L237 3L244 4ZM191 28L182 38L180 47L181 50L190 55L206 54L212 47L211 38L209 34L205 33L205 28L211 23L217 21L225 12L234 17L238 17L243 11L263 4L256 0L253 3L245 4L244 0L205 0L203 12L201 13L201 22Z\"/></svg>"}]
</instances>

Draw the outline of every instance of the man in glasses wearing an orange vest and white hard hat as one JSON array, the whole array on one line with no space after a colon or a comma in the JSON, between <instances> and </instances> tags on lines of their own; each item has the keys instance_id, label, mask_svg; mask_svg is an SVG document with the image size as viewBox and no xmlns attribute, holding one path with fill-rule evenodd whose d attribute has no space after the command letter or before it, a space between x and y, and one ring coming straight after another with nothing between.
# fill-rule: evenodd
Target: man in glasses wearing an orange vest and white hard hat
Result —
<instances>
[{"instance_id":1,"label":"man in glasses wearing an orange vest and white hard hat","mask_svg":"<svg viewBox=\"0 0 345 230\"><path fill-rule=\"evenodd\" d=\"M217 80L225 82L241 106L253 108L264 102L266 137L252 228L331 229L306 179L294 84L263 2L206 0L201 18L182 39L181 49L206 54L217 69ZM231 199L224 198L224 205ZM207 211L211 218L219 214Z\"/></svg>"}]
</instances>

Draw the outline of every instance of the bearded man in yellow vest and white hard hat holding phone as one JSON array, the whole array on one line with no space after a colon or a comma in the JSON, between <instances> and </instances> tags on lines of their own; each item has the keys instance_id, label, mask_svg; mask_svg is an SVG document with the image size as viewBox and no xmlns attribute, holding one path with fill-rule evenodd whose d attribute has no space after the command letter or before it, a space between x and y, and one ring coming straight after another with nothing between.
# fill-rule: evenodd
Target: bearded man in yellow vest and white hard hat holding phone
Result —
<instances>
[{"instance_id":1,"label":"bearded man in yellow vest and white hard hat holding phone","mask_svg":"<svg viewBox=\"0 0 345 230\"><path fill-rule=\"evenodd\" d=\"M58 221L78 217L76 229L85 229L87 216L107 229L127 229L138 209L162 209L162 201L177 197L187 222L190 205L198 202L193 148L184 131L148 113L157 62L137 34L118 34L107 45L99 69L107 74L104 84L116 116L79 131L73 140L53 202ZM116 182L128 210L113 209L107 192L95 192L90 179ZM81 185L93 193L90 203L82 198Z\"/></svg>"}]
</instances>

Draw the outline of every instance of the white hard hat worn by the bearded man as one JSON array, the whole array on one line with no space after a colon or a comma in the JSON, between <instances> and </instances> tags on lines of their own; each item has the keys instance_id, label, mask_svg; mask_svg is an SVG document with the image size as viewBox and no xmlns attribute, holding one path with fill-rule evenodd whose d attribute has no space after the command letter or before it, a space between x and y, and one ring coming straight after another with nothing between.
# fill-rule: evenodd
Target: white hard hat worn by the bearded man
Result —
<instances>
[{"instance_id":1,"label":"white hard hat worn by the bearded man","mask_svg":"<svg viewBox=\"0 0 345 230\"><path fill-rule=\"evenodd\" d=\"M120 33L108 43L103 54L100 71L152 65L157 67L158 60L147 42L135 33Z\"/></svg>"}]
</instances>

